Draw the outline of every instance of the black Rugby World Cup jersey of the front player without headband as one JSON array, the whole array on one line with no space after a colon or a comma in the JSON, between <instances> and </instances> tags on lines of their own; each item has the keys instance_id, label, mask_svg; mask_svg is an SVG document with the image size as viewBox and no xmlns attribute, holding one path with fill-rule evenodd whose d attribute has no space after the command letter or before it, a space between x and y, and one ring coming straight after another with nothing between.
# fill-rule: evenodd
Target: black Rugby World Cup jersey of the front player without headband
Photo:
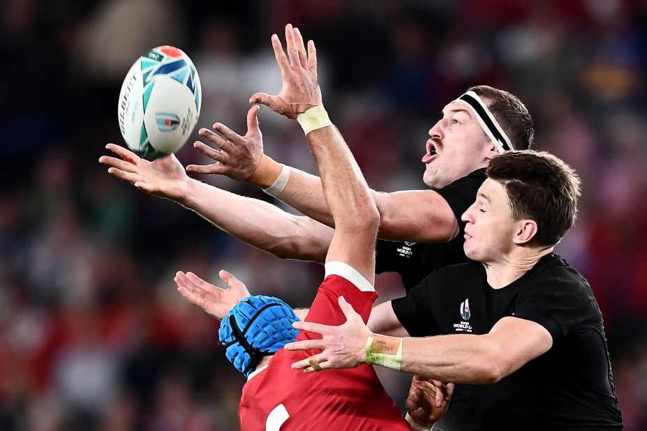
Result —
<instances>
[{"instance_id":1,"label":"black Rugby World Cup jersey of the front player without headband","mask_svg":"<svg viewBox=\"0 0 647 431\"><path fill-rule=\"evenodd\" d=\"M507 316L537 322L553 346L491 385L456 384L459 430L621 430L602 314L583 276L558 255L493 289L484 266L434 271L392 301L412 336L485 334Z\"/></svg>"}]
</instances>

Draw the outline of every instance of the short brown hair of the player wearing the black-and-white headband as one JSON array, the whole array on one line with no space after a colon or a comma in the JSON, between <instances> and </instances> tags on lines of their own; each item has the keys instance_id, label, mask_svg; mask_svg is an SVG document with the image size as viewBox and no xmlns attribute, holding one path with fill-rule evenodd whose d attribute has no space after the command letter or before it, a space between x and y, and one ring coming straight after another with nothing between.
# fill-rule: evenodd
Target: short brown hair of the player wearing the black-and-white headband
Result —
<instances>
[{"instance_id":1,"label":"short brown hair of the player wearing the black-and-white headband","mask_svg":"<svg viewBox=\"0 0 647 431\"><path fill-rule=\"evenodd\" d=\"M510 138L514 149L527 150L530 148L535 140L535 125L528 108L518 97L489 85L473 86L468 91L474 91L479 97L492 100L489 105L490 112L503 128L507 137Z\"/></svg>"}]
</instances>

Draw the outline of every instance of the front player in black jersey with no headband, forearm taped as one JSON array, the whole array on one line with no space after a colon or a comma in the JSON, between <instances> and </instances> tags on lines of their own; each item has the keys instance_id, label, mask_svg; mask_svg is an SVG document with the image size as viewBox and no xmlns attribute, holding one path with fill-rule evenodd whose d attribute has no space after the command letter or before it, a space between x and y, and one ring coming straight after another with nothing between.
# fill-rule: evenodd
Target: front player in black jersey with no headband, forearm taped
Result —
<instances>
[{"instance_id":1,"label":"front player in black jersey with no headband, forearm taped","mask_svg":"<svg viewBox=\"0 0 647 431\"><path fill-rule=\"evenodd\" d=\"M475 262L431 273L373 309L369 327L344 303L341 326L297 322L323 338L286 349L323 349L323 369L373 363L453 381L460 430L623 429L600 308L553 254L577 214L577 175L535 151L496 156L487 175L462 216Z\"/></svg>"}]
</instances>

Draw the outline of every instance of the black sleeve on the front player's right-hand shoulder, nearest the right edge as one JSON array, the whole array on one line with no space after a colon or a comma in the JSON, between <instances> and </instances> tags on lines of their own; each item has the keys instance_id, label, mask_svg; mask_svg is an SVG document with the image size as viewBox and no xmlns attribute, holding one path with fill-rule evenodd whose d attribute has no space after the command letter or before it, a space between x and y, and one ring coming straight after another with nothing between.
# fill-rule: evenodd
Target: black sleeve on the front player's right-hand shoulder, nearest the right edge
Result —
<instances>
[{"instance_id":1,"label":"black sleeve on the front player's right-hand shoulder, nearest the right edge","mask_svg":"<svg viewBox=\"0 0 647 431\"><path fill-rule=\"evenodd\" d=\"M595 318L595 304L588 284L556 278L519 292L513 316L544 326L556 342Z\"/></svg>"}]
</instances>

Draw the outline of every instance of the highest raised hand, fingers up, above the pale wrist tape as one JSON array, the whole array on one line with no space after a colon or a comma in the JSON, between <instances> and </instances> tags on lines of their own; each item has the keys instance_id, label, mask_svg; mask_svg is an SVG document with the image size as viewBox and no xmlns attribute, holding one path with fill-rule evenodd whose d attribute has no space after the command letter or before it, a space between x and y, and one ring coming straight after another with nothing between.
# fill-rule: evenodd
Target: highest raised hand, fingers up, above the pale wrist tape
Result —
<instances>
[{"instance_id":1,"label":"highest raised hand, fingers up, above the pale wrist tape","mask_svg":"<svg viewBox=\"0 0 647 431\"><path fill-rule=\"evenodd\" d=\"M261 103L274 112L296 119L306 109L322 105L321 90L317 82L317 51L315 43L308 41L308 52L299 29L292 24L285 26L285 43L288 55L283 52L281 40L272 35L272 47L278 67L281 68L283 87L276 96L267 93L255 93L249 103ZM288 61L290 59L290 61Z\"/></svg>"}]
</instances>

